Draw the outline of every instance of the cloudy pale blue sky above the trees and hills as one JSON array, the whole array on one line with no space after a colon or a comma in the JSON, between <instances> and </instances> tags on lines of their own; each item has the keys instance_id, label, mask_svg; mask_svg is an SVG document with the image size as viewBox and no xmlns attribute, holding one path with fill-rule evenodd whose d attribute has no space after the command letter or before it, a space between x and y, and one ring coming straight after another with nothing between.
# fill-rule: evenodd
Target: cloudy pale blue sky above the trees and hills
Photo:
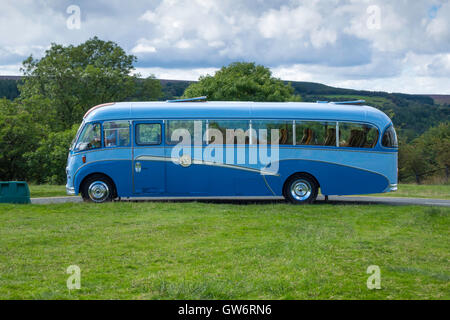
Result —
<instances>
[{"instance_id":1,"label":"cloudy pale blue sky above the trees and hills","mask_svg":"<svg viewBox=\"0 0 450 320\"><path fill-rule=\"evenodd\" d=\"M283 80L450 94L450 0L0 0L0 75L94 36L160 79L247 61Z\"/></svg>"}]
</instances>

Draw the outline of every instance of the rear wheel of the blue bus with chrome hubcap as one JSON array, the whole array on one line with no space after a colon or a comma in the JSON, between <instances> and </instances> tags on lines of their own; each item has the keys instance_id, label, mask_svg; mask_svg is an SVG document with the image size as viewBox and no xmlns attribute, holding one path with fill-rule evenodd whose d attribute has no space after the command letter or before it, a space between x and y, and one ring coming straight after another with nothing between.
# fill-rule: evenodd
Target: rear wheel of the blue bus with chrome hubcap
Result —
<instances>
[{"instance_id":1,"label":"rear wheel of the blue bus with chrome hubcap","mask_svg":"<svg viewBox=\"0 0 450 320\"><path fill-rule=\"evenodd\" d=\"M293 204L313 203L319 192L317 181L304 173L294 174L284 184L284 197Z\"/></svg>"}]
</instances>

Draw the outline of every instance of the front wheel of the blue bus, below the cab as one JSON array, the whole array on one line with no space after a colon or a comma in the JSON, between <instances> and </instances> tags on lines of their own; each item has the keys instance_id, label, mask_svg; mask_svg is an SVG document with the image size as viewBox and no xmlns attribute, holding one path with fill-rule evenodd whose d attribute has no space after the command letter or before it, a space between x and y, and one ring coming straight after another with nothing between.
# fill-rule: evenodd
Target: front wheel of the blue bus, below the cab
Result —
<instances>
[{"instance_id":1,"label":"front wheel of the blue bus, below the cab","mask_svg":"<svg viewBox=\"0 0 450 320\"><path fill-rule=\"evenodd\" d=\"M102 174L92 175L83 182L81 196L86 202L110 202L115 197L114 183Z\"/></svg>"}]
</instances>

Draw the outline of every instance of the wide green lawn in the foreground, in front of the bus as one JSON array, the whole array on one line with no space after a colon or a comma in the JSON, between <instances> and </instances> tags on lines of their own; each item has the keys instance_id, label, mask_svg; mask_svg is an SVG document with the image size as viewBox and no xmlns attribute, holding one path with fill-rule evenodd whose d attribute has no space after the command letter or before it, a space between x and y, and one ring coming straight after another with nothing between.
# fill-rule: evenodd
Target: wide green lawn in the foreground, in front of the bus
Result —
<instances>
[{"instance_id":1,"label":"wide green lawn in the foreground, in front of the bus","mask_svg":"<svg viewBox=\"0 0 450 320\"><path fill-rule=\"evenodd\" d=\"M449 208L0 205L0 299L449 299ZM69 291L66 269L81 269ZM370 265L381 289L369 290Z\"/></svg>"}]
</instances>

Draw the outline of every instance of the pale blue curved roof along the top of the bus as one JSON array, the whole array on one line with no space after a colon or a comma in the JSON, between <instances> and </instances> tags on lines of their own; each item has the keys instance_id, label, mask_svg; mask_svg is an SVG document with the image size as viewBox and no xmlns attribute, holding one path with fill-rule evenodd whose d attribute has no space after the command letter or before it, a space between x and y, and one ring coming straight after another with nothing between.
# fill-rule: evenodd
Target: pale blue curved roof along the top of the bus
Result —
<instances>
[{"instance_id":1,"label":"pale blue curved roof along the top of the bus","mask_svg":"<svg viewBox=\"0 0 450 320\"><path fill-rule=\"evenodd\" d=\"M128 119L305 119L391 123L382 111L361 105L309 102L118 102L93 107L86 122Z\"/></svg>"}]
</instances>

